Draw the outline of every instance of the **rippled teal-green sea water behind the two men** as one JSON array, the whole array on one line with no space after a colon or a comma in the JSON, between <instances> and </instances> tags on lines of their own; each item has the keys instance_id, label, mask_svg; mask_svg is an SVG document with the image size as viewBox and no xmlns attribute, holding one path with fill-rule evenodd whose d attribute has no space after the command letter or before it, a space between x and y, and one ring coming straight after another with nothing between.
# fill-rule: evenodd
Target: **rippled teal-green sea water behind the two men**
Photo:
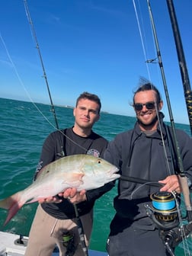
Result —
<instances>
[{"instance_id":1,"label":"rippled teal-green sea water behind the two men","mask_svg":"<svg viewBox=\"0 0 192 256\"><path fill-rule=\"evenodd\" d=\"M43 141L56 128L50 105L0 98L0 106L0 199L3 199L31 184ZM72 108L56 106L55 110L60 128L73 125ZM135 117L101 113L94 132L111 140L117 133L133 128L135 120ZM189 125L176 123L175 126L190 135ZM116 194L117 187L114 187L98 199L94 206L91 249L105 251ZM0 230L28 235L36 208L37 203L24 205L7 226L3 226L7 211L0 209ZM190 241L189 245L192 250ZM175 253L184 255L183 245L179 245Z\"/></svg>"}]
</instances>

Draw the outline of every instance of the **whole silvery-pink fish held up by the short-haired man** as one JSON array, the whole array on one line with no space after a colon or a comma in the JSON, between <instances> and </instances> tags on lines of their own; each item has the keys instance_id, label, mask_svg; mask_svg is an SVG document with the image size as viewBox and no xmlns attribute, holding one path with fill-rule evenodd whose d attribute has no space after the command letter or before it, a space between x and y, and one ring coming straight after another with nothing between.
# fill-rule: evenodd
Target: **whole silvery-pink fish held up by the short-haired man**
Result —
<instances>
[{"instance_id":1,"label":"whole silvery-pink fish held up by the short-haired man","mask_svg":"<svg viewBox=\"0 0 192 256\"><path fill-rule=\"evenodd\" d=\"M44 166L37 179L10 197L0 200L0 208L8 210L4 226L25 203L55 197L69 187L77 191L91 190L120 178L119 169L94 155L68 155Z\"/></svg>"}]
</instances>

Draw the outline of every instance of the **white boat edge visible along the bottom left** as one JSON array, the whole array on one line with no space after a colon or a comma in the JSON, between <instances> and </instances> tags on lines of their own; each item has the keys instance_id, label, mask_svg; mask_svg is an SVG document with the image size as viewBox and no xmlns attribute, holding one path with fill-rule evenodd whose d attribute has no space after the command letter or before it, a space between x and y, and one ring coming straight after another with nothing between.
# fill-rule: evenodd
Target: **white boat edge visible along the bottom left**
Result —
<instances>
[{"instance_id":1,"label":"white boat edge visible along the bottom left","mask_svg":"<svg viewBox=\"0 0 192 256\"><path fill-rule=\"evenodd\" d=\"M22 256L27 247L27 236L16 235L9 232L0 232L0 256ZM59 256L57 248L53 251L53 256ZM88 250L89 256L107 256L104 251Z\"/></svg>"}]
</instances>

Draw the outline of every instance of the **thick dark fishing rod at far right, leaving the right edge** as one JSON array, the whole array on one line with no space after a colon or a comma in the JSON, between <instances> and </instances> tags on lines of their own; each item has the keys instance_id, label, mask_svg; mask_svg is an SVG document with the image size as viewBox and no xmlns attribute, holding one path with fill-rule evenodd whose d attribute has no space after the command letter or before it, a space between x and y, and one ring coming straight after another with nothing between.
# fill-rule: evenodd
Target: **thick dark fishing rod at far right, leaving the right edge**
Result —
<instances>
[{"instance_id":1,"label":"thick dark fishing rod at far right, leaving the right edge","mask_svg":"<svg viewBox=\"0 0 192 256\"><path fill-rule=\"evenodd\" d=\"M174 11L173 1L167 0L167 5L168 5L168 12L171 20L172 30L174 34L175 46L178 53L178 62L179 62L181 78L182 78L183 88L184 88L184 98L186 101L187 112L188 112L188 117L190 122L190 133L192 135L192 91L190 88L190 78L187 72L187 64L184 57L184 49L181 42L181 36L178 28L178 21Z\"/></svg>"}]
</instances>

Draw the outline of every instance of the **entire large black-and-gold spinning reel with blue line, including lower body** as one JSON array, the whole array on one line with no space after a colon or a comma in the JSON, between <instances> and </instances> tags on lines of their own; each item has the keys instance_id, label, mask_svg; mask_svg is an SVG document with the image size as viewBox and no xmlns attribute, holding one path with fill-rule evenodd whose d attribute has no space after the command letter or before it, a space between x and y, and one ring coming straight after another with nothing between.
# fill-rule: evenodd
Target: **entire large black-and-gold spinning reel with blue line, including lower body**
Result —
<instances>
[{"instance_id":1,"label":"entire large black-and-gold spinning reel with blue line, including lower body","mask_svg":"<svg viewBox=\"0 0 192 256\"><path fill-rule=\"evenodd\" d=\"M169 192L156 192L151 195L152 206L146 205L146 212L159 229L159 236L171 256L174 248L192 232L192 222L180 226L177 203L180 197Z\"/></svg>"}]
</instances>

